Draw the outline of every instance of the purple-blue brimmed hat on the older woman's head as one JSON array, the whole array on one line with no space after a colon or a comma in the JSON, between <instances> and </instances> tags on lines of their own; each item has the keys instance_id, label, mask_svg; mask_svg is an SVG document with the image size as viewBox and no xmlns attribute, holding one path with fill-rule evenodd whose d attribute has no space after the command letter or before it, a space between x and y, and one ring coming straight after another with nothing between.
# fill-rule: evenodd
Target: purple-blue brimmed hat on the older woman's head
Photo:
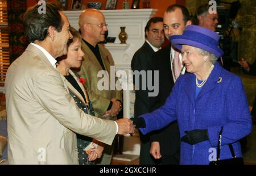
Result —
<instances>
[{"instance_id":1,"label":"purple-blue brimmed hat on the older woman's head","mask_svg":"<svg viewBox=\"0 0 256 176\"><path fill-rule=\"evenodd\" d=\"M220 36L217 33L195 25L188 25L183 35L173 35L170 37L172 45L179 50L181 50L182 45L190 45L204 49L217 58L224 54L222 49L218 47L218 39L220 39Z\"/></svg>"}]
</instances>

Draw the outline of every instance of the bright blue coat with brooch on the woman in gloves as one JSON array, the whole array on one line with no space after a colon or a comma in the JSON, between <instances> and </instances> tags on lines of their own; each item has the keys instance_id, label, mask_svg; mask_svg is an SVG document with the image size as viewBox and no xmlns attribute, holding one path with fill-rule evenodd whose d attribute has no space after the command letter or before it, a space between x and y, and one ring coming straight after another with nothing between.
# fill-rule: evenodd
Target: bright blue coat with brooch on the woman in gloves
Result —
<instances>
[{"instance_id":1,"label":"bright blue coat with brooch on the woman in gloves","mask_svg":"<svg viewBox=\"0 0 256 176\"><path fill-rule=\"evenodd\" d=\"M220 159L232 158L227 145L230 143L236 156L241 157L238 140L248 135L252 128L241 79L216 63L196 99L195 79L193 73L180 76L164 106L141 116L146 122L141 132L146 134L163 128L174 120L177 120L181 137L184 131L208 129L207 141L195 145L181 142L180 164L209 164L211 148L217 149L223 127Z\"/></svg>"}]
</instances>

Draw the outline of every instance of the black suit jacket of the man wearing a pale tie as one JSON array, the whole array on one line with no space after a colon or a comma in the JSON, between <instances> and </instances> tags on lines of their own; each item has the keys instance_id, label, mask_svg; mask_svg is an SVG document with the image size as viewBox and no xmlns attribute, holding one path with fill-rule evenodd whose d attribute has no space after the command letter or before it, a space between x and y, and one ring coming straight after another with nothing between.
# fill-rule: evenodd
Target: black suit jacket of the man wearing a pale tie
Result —
<instances>
[{"instance_id":1,"label":"black suit jacket of the man wearing a pale tie","mask_svg":"<svg viewBox=\"0 0 256 176\"><path fill-rule=\"evenodd\" d=\"M170 50L171 46L167 45L152 55L153 70L159 70L159 94L156 97L150 97L150 111L163 106L174 86ZM160 153L162 155L174 156L174 154L179 152L180 148L177 122L174 121L167 127L155 131L155 134L151 136L151 141L158 141L160 143Z\"/></svg>"}]
</instances>

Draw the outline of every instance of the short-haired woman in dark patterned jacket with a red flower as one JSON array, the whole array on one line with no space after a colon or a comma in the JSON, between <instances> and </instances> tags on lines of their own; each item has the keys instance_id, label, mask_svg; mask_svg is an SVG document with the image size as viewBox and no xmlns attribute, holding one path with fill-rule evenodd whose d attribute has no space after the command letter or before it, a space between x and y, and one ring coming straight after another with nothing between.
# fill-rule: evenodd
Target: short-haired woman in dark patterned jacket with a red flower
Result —
<instances>
[{"instance_id":1,"label":"short-haired woman in dark patterned jacket with a red flower","mask_svg":"<svg viewBox=\"0 0 256 176\"><path fill-rule=\"evenodd\" d=\"M79 74L73 72L71 68L79 68L82 62L84 52L81 50L81 35L70 28L69 31L73 35L73 39L68 41L68 53L57 58L57 70L65 77L69 93L75 100L77 106L86 114L94 116L94 109L88 94L83 86L85 80ZM99 142L90 137L77 134L77 152L79 156L79 164L93 164L91 161L100 158L103 147L96 144Z\"/></svg>"}]
</instances>

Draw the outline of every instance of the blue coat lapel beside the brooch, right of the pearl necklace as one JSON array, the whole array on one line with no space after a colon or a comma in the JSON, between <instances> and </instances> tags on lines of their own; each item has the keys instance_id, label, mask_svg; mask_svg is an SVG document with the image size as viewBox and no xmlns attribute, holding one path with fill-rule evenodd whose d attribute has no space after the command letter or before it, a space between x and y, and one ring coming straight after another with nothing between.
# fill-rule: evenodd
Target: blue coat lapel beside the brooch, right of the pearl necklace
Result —
<instances>
[{"instance_id":1,"label":"blue coat lapel beside the brooch, right of the pearl necklace","mask_svg":"<svg viewBox=\"0 0 256 176\"><path fill-rule=\"evenodd\" d=\"M200 91L199 95L197 96L196 99L199 99L202 97L204 94L208 93L210 90L214 89L218 85L218 80L220 79L220 75L222 72L222 68L218 62L214 65L214 68L212 70L212 73L210 73L210 76L205 82L205 85L203 86L203 89Z\"/></svg>"}]
</instances>

